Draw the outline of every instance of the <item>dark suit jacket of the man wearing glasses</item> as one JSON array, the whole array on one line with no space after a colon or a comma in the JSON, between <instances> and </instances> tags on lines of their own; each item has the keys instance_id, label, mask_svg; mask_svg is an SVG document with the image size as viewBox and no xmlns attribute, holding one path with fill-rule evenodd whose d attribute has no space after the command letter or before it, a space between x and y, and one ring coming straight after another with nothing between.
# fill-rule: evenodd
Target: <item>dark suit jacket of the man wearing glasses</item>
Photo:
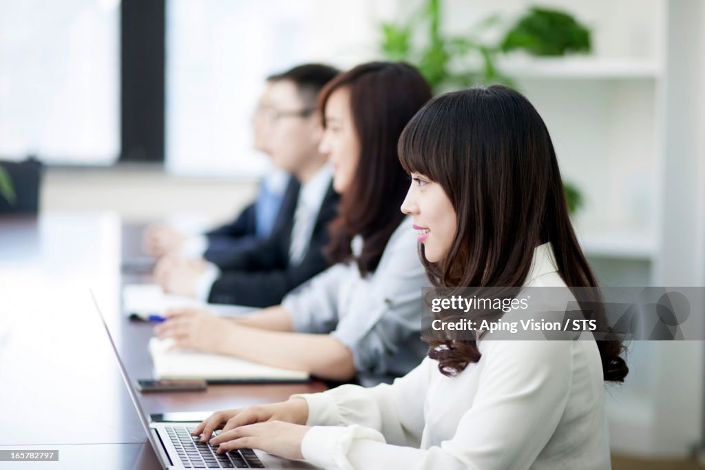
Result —
<instances>
[{"instance_id":1,"label":"dark suit jacket of the man wearing glasses","mask_svg":"<svg viewBox=\"0 0 705 470\"><path fill-rule=\"evenodd\" d=\"M329 186L314 224L308 251L298 265L289 264L289 245L298 200L298 186L284 193L280 217L269 239L249 250L221 260L222 275L214 282L208 301L253 307L281 303L292 289L328 267L323 247L328 243L328 224L338 215L339 196Z\"/></svg>"}]
</instances>

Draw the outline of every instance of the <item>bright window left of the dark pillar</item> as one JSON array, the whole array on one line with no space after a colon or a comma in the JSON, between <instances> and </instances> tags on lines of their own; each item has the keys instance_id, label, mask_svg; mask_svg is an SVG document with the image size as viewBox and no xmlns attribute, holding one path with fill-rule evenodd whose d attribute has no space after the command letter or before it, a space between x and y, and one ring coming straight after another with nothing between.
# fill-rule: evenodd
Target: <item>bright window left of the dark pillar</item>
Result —
<instances>
[{"instance_id":1,"label":"bright window left of the dark pillar","mask_svg":"<svg viewBox=\"0 0 705 470\"><path fill-rule=\"evenodd\" d=\"M119 0L0 0L0 158L111 164Z\"/></svg>"}]
</instances>

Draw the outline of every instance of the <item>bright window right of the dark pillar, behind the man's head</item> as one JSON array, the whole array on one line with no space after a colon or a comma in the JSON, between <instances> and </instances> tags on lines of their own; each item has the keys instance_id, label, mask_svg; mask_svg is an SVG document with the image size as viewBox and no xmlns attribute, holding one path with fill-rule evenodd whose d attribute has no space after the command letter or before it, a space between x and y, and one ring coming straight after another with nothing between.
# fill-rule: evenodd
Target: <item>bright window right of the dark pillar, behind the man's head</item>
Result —
<instances>
[{"instance_id":1,"label":"bright window right of the dark pillar, behind the man's head","mask_svg":"<svg viewBox=\"0 0 705 470\"><path fill-rule=\"evenodd\" d=\"M369 4L168 0L167 168L261 174L268 162L252 149L250 118L264 78L305 62L344 68L374 56Z\"/></svg>"}]
</instances>

